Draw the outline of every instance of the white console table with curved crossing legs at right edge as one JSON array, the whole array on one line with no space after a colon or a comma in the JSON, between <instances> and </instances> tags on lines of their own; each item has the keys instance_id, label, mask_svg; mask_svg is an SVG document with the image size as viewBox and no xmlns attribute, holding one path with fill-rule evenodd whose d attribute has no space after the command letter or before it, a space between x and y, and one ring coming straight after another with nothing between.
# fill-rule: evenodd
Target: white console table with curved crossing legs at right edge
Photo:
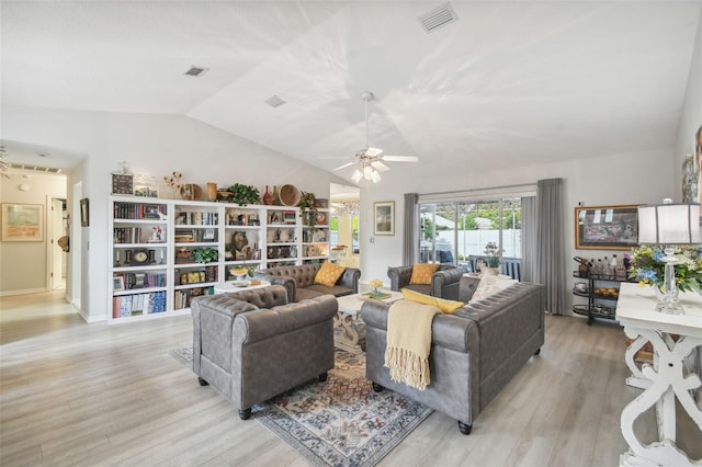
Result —
<instances>
[{"instance_id":1,"label":"white console table with curved crossing legs at right edge","mask_svg":"<svg viewBox=\"0 0 702 467\"><path fill-rule=\"evenodd\" d=\"M702 297L697 293L680 294L680 297L686 315L660 314L656 311L649 287L621 285L616 320L624 327L625 334L635 339L625 354L632 371L626 383L644 391L622 411L622 435L630 449L620 457L620 466L702 465L676 445L676 399L702 431L702 411L691 396L691 391L701 386L700 376L686 367L686 358L702 346ZM671 334L679 338L673 340ZM646 342L653 344L654 365L644 364L639 369L634 354ZM634 434L634 421L654 405L658 441L644 445Z\"/></svg>"}]
</instances>

